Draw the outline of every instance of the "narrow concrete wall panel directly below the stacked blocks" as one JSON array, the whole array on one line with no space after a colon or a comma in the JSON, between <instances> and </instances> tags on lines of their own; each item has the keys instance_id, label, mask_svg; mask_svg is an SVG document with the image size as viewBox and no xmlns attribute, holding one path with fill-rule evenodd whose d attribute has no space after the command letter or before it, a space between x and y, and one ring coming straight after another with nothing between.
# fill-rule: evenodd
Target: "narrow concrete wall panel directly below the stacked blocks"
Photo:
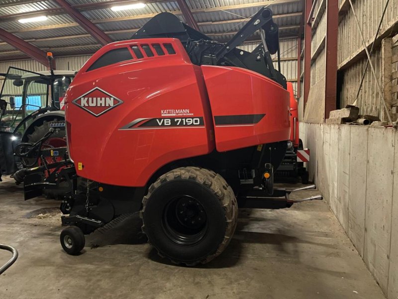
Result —
<instances>
[{"instance_id":1,"label":"narrow concrete wall panel directly below the stacked blocks","mask_svg":"<svg viewBox=\"0 0 398 299\"><path fill-rule=\"evenodd\" d=\"M348 232L351 126L339 126L338 128L337 219L343 229Z\"/></svg>"}]
</instances>

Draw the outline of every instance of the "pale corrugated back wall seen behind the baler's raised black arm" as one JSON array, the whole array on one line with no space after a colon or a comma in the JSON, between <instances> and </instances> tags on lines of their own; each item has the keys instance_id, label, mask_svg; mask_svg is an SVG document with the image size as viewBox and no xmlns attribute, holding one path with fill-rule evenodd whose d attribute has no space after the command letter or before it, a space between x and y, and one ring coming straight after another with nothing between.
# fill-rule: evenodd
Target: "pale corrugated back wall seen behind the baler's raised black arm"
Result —
<instances>
[{"instance_id":1,"label":"pale corrugated back wall seen behind the baler's raised black arm","mask_svg":"<svg viewBox=\"0 0 398 299\"><path fill-rule=\"evenodd\" d=\"M293 83L295 96L297 97L297 38L282 39L280 41L281 48L281 73L286 77L289 82ZM251 52L259 45L259 41L244 43L242 50ZM274 67L278 69L277 55L272 55L274 60Z\"/></svg>"}]
</instances>

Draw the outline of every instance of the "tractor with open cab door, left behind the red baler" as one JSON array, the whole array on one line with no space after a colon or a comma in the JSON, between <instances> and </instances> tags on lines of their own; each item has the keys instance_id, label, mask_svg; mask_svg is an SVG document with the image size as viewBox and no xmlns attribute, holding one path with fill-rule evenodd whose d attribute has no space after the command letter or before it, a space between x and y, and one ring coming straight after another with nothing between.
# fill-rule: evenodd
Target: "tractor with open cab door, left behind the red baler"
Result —
<instances>
[{"instance_id":1,"label":"tractor with open cab door, left behind the red baler","mask_svg":"<svg viewBox=\"0 0 398 299\"><path fill-rule=\"evenodd\" d=\"M36 144L39 149L66 146L63 98L75 71L31 72L9 67L0 93L0 181L22 167L43 163L18 153L18 145ZM54 130L50 130L54 128ZM49 139L41 142L52 131ZM57 157L47 157L55 160Z\"/></svg>"}]
</instances>

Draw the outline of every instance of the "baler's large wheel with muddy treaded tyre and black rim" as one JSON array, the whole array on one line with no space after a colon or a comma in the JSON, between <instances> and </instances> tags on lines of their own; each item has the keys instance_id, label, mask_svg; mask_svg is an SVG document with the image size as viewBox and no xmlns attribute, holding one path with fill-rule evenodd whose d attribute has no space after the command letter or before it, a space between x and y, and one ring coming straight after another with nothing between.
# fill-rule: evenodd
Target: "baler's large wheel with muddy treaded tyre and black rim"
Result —
<instances>
[{"instance_id":1,"label":"baler's large wheel with muddy treaded tyre and black rim","mask_svg":"<svg viewBox=\"0 0 398 299\"><path fill-rule=\"evenodd\" d=\"M195 266L217 257L236 228L238 205L218 174L181 167L160 176L142 201L142 231L162 257Z\"/></svg>"}]
</instances>

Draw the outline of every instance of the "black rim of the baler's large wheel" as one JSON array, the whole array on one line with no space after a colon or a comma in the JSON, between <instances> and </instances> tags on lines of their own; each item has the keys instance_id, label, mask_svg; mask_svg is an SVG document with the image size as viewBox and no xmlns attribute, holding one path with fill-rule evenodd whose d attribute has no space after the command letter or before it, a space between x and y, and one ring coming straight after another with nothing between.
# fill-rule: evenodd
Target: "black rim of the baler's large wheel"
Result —
<instances>
[{"instance_id":1,"label":"black rim of the baler's large wheel","mask_svg":"<svg viewBox=\"0 0 398 299\"><path fill-rule=\"evenodd\" d=\"M207 232L207 216L202 204L189 195L174 197L163 211L163 229L177 244L198 243Z\"/></svg>"}]
</instances>

